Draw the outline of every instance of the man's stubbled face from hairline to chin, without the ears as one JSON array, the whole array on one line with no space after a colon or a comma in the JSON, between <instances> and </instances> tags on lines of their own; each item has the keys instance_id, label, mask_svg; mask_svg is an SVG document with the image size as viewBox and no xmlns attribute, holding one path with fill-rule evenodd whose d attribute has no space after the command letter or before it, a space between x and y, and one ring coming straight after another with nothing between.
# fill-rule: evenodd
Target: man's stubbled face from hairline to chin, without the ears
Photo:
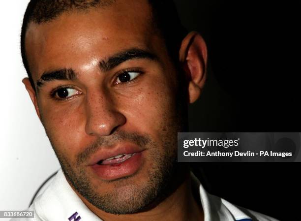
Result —
<instances>
[{"instance_id":1,"label":"man's stubbled face from hairline to chin, without the ears","mask_svg":"<svg viewBox=\"0 0 301 221\"><path fill-rule=\"evenodd\" d=\"M181 126L177 72L148 2L32 23L26 50L36 108L73 187L109 213L154 202L175 170Z\"/></svg>"}]
</instances>

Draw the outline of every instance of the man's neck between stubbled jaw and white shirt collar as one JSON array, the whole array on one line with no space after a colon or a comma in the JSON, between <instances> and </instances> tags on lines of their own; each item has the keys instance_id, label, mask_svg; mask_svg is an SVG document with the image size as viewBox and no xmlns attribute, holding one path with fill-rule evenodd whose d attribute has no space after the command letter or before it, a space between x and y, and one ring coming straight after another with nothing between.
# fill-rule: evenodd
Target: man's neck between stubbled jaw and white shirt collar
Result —
<instances>
[{"instance_id":1,"label":"man's neck between stubbled jaw and white shirt collar","mask_svg":"<svg viewBox=\"0 0 301 221\"><path fill-rule=\"evenodd\" d=\"M158 205L148 211L114 215L99 210L91 205L85 198L77 193L88 208L104 221L204 221L202 206L193 197L191 178L189 172L184 176L184 181ZM197 196L199 198L199 196Z\"/></svg>"}]
</instances>

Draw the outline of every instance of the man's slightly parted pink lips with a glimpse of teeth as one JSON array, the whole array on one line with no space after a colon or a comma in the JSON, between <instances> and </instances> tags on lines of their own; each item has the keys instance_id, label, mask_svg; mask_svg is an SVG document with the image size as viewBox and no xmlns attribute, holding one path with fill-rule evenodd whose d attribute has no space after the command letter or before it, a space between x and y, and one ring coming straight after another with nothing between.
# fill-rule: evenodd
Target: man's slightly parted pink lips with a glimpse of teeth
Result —
<instances>
[{"instance_id":1,"label":"man's slightly parted pink lips with a glimpse of teeth","mask_svg":"<svg viewBox=\"0 0 301 221\"><path fill-rule=\"evenodd\" d=\"M135 174L144 161L144 150L135 145L100 148L91 158L90 168L102 180L111 181Z\"/></svg>"}]
</instances>

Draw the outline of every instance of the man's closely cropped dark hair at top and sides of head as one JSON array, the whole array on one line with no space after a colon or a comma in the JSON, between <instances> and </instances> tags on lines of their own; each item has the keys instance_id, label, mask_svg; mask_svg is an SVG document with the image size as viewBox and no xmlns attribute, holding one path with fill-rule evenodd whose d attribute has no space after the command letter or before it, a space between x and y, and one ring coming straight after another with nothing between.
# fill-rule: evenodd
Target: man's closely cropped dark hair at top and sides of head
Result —
<instances>
[{"instance_id":1,"label":"man's closely cropped dark hair at top and sides of head","mask_svg":"<svg viewBox=\"0 0 301 221\"><path fill-rule=\"evenodd\" d=\"M116 0L30 0L23 18L21 30L21 55L24 67L35 89L25 51L25 35L30 22L47 23L70 10L85 11L93 7L106 7ZM167 50L174 62L178 61L181 41L187 30L181 25L173 0L149 0L155 27L163 36Z\"/></svg>"}]
</instances>

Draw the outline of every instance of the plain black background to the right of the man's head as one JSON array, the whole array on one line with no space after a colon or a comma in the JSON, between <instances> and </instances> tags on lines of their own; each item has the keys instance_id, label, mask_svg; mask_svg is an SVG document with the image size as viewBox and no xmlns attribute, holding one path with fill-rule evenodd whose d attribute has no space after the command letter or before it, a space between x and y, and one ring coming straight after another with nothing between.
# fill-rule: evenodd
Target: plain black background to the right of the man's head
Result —
<instances>
[{"instance_id":1,"label":"plain black background to the right of the man's head","mask_svg":"<svg viewBox=\"0 0 301 221\"><path fill-rule=\"evenodd\" d=\"M209 50L191 132L300 132L300 1L175 0ZM297 62L298 60L298 62ZM300 221L300 163L193 164L212 194L280 221Z\"/></svg>"}]
</instances>

